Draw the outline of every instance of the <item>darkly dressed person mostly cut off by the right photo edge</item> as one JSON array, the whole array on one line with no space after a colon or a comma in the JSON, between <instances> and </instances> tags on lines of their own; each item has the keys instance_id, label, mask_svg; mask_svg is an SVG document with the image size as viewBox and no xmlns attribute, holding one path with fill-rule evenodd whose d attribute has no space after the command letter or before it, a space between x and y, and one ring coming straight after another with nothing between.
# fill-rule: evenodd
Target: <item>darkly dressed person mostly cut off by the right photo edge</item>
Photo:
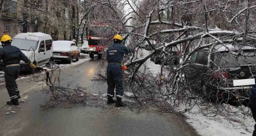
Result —
<instances>
[{"instance_id":1,"label":"darkly dressed person mostly cut off by the right photo edge","mask_svg":"<svg viewBox=\"0 0 256 136\"><path fill-rule=\"evenodd\" d=\"M254 79L256 82L256 77L254 77ZM253 85L250 91L249 106L253 114L253 119L256 121L256 85ZM256 136L256 124L254 125L253 136Z\"/></svg>"}]
</instances>

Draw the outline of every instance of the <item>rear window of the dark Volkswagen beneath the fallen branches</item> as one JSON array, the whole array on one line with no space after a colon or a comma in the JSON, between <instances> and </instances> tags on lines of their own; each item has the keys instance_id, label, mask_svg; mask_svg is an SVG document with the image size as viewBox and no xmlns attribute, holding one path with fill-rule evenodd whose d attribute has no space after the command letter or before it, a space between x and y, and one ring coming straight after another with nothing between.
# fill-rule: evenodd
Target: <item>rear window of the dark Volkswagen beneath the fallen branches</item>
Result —
<instances>
[{"instance_id":1,"label":"rear window of the dark Volkswagen beneath the fallen branches","mask_svg":"<svg viewBox=\"0 0 256 136\"><path fill-rule=\"evenodd\" d=\"M237 58L230 52L216 54L215 63L222 68L238 68L241 65L256 65L255 52L244 52ZM248 61L247 61L248 60Z\"/></svg>"}]
</instances>

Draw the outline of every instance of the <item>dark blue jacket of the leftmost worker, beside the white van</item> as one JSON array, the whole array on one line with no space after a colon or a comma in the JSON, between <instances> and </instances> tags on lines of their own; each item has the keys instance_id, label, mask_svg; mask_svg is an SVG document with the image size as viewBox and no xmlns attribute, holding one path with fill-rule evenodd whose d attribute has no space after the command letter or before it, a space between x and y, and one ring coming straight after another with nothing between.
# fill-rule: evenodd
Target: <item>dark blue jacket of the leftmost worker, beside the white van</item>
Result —
<instances>
[{"instance_id":1,"label":"dark blue jacket of the leftmost worker, beside the white van","mask_svg":"<svg viewBox=\"0 0 256 136\"><path fill-rule=\"evenodd\" d=\"M19 64L20 59L25 63L29 63L30 60L23 54L19 48L6 44L0 49L0 60L3 59L3 67L10 64Z\"/></svg>"}]
</instances>

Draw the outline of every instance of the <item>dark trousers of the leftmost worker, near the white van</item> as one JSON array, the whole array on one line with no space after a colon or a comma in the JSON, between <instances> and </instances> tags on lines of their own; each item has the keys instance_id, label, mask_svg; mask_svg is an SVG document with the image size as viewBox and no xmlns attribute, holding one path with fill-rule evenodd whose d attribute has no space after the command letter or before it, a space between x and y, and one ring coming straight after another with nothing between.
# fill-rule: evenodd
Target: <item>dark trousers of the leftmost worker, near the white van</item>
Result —
<instances>
[{"instance_id":1,"label":"dark trousers of the leftmost worker, near the white van","mask_svg":"<svg viewBox=\"0 0 256 136\"><path fill-rule=\"evenodd\" d=\"M16 79L20 74L20 66L12 66L4 69L4 79L6 82L6 89L11 99L16 99L18 94L18 86Z\"/></svg>"}]
</instances>

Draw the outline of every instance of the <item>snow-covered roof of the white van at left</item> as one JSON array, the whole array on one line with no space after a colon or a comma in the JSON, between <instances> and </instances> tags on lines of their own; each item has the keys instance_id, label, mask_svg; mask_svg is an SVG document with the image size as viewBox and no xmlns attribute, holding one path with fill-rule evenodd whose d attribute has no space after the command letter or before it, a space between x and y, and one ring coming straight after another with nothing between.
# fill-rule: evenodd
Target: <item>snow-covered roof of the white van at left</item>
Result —
<instances>
[{"instance_id":1,"label":"snow-covered roof of the white van at left","mask_svg":"<svg viewBox=\"0 0 256 136\"><path fill-rule=\"evenodd\" d=\"M37 33L17 34L13 38L14 39L27 39L27 40L38 41L41 37L51 37L51 36L49 34L44 34L44 33L41 33L41 32L37 32Z\"/></svg>"}]
</instances>

